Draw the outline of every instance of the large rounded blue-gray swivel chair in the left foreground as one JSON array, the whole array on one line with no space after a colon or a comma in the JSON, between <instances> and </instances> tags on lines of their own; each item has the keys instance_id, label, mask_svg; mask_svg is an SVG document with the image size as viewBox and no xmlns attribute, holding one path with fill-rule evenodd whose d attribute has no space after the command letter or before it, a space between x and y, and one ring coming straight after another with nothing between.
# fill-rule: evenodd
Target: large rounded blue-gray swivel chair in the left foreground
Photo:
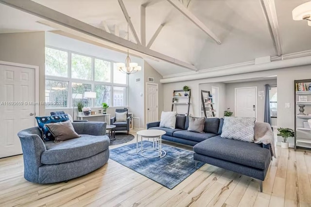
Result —
<instances>
[{"instance_id":1,"label":"large rounded blue-gray swivel chair in the left foreground","mask_svg":"<svg viewBox=\"0 0 311 207\"><path fill-rule=\"evenodd\" d=\"M73 122L79 138L43 142L39 127L18 132L24 158L24 177L35 183L55 183L86 175L109 159L105 122Z\"/></svg>"}]
</instances>

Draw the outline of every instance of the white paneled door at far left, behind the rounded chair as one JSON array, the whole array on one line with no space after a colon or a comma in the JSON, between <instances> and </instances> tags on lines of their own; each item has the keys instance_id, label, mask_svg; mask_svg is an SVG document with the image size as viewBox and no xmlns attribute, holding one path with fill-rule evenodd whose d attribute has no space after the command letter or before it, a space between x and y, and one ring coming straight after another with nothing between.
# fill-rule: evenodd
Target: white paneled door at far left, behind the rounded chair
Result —
<instances>
[{"instance_id":1,"label":"white paneled door at far left, behind the rounded chair","mask_svg":"<svg viewBox=\"0 0 311 207\"><path fill-rule=\"evenodd\" d=\"M35 69L0 64L0 158L22 154L17 132L35 126Z\"/></svg>"}]
</instances>

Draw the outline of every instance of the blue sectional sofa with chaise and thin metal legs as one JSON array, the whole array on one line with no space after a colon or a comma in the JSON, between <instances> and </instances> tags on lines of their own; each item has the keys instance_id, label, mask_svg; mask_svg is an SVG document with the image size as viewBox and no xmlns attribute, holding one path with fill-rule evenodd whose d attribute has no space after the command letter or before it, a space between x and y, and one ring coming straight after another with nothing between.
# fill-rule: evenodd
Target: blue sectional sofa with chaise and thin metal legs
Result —
<instances>
[{"instance_id":1,"label":"blue sectional sofa with chaise and thin metal legs","mask_svg":"<svg viewBox=\"0 0 311 207\"><path fill-rule=\"evenodd\" d=\"M193 146L195 163L208 163L258 179L262 192L262 181L272 159L270 145L221 138L223 124L223 118L207 118L205 133L190 132L188 117L176 116L175 129L159 127L160 122L148 123L147 129L164 130L162 139Z\"/></svg>"}]
</instances>

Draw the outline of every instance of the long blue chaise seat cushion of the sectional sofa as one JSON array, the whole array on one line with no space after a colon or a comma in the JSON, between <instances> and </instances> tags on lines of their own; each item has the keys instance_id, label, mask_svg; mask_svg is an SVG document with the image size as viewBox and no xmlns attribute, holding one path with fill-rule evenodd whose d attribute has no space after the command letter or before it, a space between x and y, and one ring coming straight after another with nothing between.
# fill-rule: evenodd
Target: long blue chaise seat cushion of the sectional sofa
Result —
<instances>
[{"instance_id":1,"label":"long blue chaise seat cushion of the sectional sofa","mask_svg":"<svg viewBox=\"0 0 311 207\"><path fill-rule=\"evenodd\" d=\"M267 167L271 159L270 150L261 147L260 144L224 139L220 135L197 143L193 151L262 170Z\"/></svg>"}]
</instances>

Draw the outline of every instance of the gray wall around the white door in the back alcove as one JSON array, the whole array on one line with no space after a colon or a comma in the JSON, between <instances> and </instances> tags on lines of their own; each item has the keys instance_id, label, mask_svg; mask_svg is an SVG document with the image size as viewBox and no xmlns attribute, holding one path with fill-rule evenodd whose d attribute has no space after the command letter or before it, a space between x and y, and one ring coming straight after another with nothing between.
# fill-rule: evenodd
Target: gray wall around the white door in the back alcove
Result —
<instances>
[{"instance_id":1,"label":"gray wall around the white door in the back alcove","mask_svg":"<svg viewBox=\"0 0 311 207\"><path fill-rule=\"evenodd\" d=\"M263 122L264 120L264 97L259 97L259 91L265 91L265 84L276 85L276 80L260 80L250 82L239 82L239 83L227 83L226 84L226 108L230 108L235 113L235 88L242 87L257 87L257 121ZM264 92L265 93L265 92Z\"/></svg>"}]
</instances>

